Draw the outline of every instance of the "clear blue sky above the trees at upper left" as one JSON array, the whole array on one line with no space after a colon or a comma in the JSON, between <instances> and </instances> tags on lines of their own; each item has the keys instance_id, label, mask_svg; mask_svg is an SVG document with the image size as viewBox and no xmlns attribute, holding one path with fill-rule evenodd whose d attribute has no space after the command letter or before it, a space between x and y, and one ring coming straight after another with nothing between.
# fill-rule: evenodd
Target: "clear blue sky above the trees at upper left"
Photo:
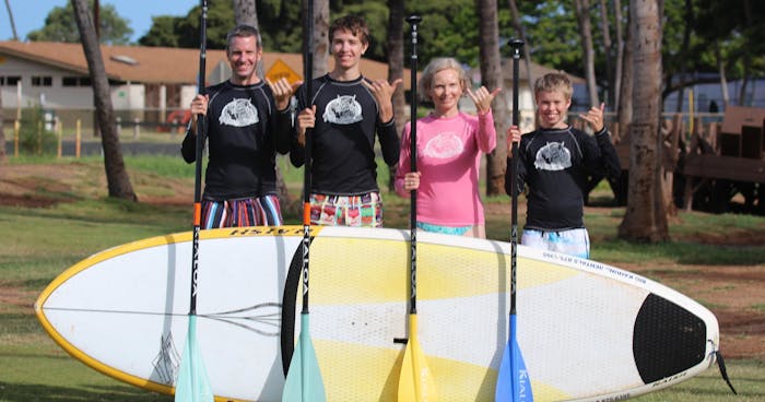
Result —
<instances>
[{"instance_id":1,"label":"clear blue sky above the trees at upper left","mask_svg":"<svg viewBox=\"0 0 765 402\"><path fill-rule=\"evenodd\" d=\"M13 12L19 40L25 40L26 34L45 26L45 17L54 8L66 7L69 0L7 0ZM5 1L0 3L0 40L13 39L11 20L8 16ZM99 0L101 7L111 4L117 14L128 20L134 43L149 32L152 16L187 15L189 10L198 5L199 0Z\"/></svg>"}]
</instances>

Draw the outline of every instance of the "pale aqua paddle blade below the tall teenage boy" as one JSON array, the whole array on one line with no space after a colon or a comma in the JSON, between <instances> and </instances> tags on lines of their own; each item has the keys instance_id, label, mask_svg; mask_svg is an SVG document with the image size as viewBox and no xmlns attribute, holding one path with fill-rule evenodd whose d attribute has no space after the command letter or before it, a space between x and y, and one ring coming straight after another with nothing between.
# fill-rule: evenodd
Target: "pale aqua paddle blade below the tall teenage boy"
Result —
<instances>
[{"instance_id":1,"label":"pale aqua paddle blade below the tall teenage boy","mask_svg":"<svg viewBox=\"0 0 765 402\"><path fill-rule=\"evenodd\" d=\"M301 335L292 354L282 402L325 402L327 393L308 332L308 314L301 314Z\"/></svg>"}]
</instances>

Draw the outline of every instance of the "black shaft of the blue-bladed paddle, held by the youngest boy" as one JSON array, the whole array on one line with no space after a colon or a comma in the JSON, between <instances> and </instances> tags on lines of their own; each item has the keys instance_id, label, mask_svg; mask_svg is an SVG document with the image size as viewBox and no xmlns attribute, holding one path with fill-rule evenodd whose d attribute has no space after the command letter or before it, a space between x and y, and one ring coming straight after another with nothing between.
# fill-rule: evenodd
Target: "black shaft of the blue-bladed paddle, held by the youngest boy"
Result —
<instances>
[{"instance_id":1,"label":"black shaft of the blue-bladed paddle, held by the youngest boy","mask_svg":"<svg viewBox=\"0 0 765 402\"><path fill-rule=\"evenodd\" d=\"M513 48L513 126L518 126L520 110L518 108L518 76L520 49L523 42L520 39L510 40ZM510 315L516 314L516 264L518 255L518 143L513 141L513 158L510 159Z\"/></svg>"}]
</instances>

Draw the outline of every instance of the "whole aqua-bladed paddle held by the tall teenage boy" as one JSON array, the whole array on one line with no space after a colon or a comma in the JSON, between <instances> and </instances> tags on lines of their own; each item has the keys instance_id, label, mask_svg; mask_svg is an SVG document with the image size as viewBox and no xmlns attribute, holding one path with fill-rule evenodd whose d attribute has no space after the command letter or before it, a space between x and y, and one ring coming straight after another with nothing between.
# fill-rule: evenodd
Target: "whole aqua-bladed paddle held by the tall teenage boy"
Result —
<instances>
[{"instance_id":1,"label":"whole aqua-bladed paddle held by the tall teenage boy","mask_svg":"<svg viewBox=\"0 0 765 402\"><path fill-rule=\"evenodd\" d=\"M307 16L304 21L305 52L303 69L306 85L306 104L313 98L314 70L314 0L308 0ZM314 343L310 340L308 320L308 248L310 246L310 169L311 147L314 144L310 130L305 134L305 170L303 172L303 310L301 311L301 334L292 354L287 370L283 402L323 402L327 400L319 362L316 358Z\"/></svg>"}]
</instances>

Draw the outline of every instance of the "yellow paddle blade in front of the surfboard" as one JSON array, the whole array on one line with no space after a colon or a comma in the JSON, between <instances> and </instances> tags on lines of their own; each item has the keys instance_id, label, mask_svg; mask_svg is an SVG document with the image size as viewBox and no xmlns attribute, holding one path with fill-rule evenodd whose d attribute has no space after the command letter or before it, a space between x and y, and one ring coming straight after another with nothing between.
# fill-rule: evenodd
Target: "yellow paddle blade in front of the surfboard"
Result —
<instances>
[{"instance_id":1,"label":"yellow paddle blade in front of the surfboard","mask_svg":"<svg viewBox=\"0 0 765 402\"><path fill-rule=\"evenodd\" d=\"M417 316L409 315L409 341L399 375L400 402L438 401L436 382L417 341Z\"/></svg>"}]
</instances>

